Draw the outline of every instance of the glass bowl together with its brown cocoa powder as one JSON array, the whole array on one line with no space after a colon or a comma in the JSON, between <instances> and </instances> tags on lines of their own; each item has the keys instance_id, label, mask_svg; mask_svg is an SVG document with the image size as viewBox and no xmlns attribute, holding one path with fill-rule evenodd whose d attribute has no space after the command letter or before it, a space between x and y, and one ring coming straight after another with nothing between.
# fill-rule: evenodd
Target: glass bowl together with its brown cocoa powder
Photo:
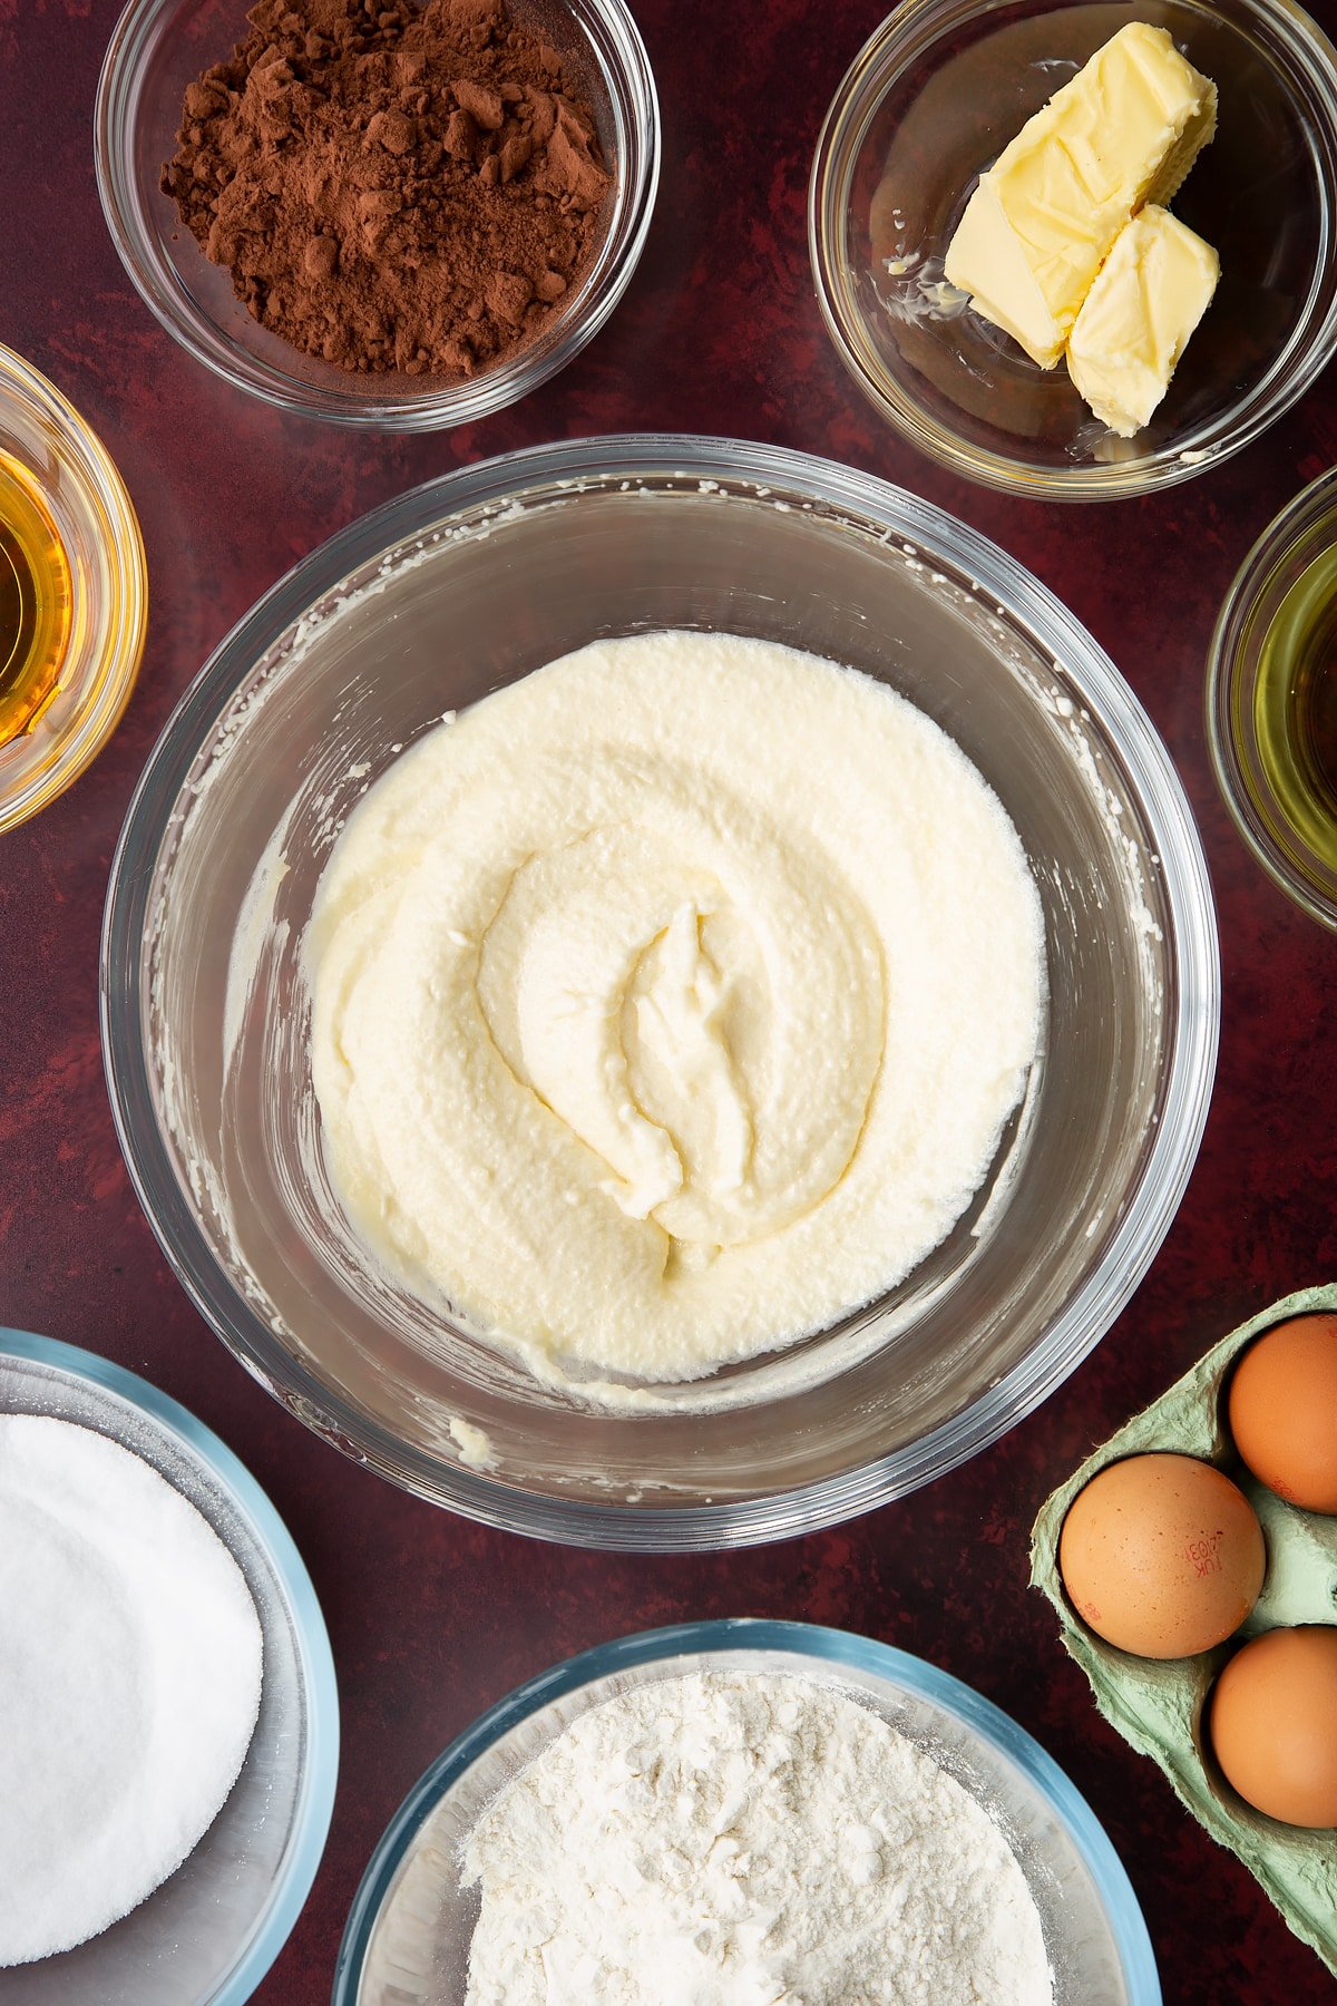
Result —
<instances>
[{"instance_id":1,"label":"glass bowl together with its brown cocoa powder","mask_svg":"<svg viewBox=\"0 0 1337 2006\"><path fill-rule=\"evenodd\" d=\"M623 0L130 0L94 132L168 333L267 403L383 431L473 423L571 361L659 175Z\"/></svg>"}]
</instances>

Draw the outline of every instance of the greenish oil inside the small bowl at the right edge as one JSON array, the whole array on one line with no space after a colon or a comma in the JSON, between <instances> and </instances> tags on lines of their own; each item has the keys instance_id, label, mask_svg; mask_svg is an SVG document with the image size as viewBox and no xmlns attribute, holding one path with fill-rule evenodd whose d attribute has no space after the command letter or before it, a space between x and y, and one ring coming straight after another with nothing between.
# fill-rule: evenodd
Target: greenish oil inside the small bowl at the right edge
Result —
<instances>
[{"instance_id":1,"label":"greenish oil inside the small bowl at the right edge","mask_svg":"<svg viewBox=\"0 0 1337 2006\"><path fill-rule=\"evenodd\" d=\"M1337 548L1305 566L1263 636L1253 730L1291 841L1337 871Z\"/></svg>"}]
</instances>

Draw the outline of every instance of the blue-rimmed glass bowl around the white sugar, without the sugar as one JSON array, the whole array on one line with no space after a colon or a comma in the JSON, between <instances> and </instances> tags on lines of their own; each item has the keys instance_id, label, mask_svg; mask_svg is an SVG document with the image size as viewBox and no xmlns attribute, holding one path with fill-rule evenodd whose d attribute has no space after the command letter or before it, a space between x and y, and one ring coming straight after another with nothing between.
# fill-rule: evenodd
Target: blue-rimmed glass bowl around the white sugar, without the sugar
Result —
<instances>
[{"instance_id":1,"label":"blue-rimmed glass bowl around the white sugar, without the sugar","mask_svg":"<svg viewBox=\"0 0 1337 2006\"><path fill-rule=\"evenodd\" d=\"M0 1972L4 2006L243 2006L301 1914L335 1805L339 1695L311 1577L231 1448L110 1360L0 1330L0 1414L52 1414L142 1456L227 1545L265 1637L255 1737L200 1844L110 1930Z\"/></svg>"}]
</instances>

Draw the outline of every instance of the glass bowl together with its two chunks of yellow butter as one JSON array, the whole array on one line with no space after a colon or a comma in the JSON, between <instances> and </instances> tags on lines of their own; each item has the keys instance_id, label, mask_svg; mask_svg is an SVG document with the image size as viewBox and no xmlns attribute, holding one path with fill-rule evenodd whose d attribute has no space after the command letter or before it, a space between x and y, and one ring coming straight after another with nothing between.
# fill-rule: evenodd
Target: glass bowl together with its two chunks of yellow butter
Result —
<instances>
[{"instance_id":1,"label":"glass bowl together with its two chunks of yellow butter","mask_svg":"<svg viewBox=\"0 0 1337 2006\"><path fill-rule=\"evenodd\" d=\"M1337 54L1285 0L906 0L818 142L842 361L920 451L1115 499L1249 445L1337 345Z\"/></svg>"}]
</instances>

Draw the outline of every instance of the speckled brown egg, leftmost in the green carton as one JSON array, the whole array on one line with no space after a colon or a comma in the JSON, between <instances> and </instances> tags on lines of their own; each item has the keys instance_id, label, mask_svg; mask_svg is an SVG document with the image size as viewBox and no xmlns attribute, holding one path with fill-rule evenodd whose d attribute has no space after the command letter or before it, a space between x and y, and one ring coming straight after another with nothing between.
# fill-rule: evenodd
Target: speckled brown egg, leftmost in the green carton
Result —
<instances>
[{"instance_id":1,"label":"speckled brown egg, leftmost in the green carton","mask_svg":"<svg viewBox=\"0 0 1337 2006\"><path fill-rule=\"evenodd\" d=\"M1127 1456L1078 1490L1058 1569L1078 1617L1121 1651L1191 1657L1239 1629L1263 1587L1263 1531L1195 1456Z\"/></svg>"}]
</instances>

